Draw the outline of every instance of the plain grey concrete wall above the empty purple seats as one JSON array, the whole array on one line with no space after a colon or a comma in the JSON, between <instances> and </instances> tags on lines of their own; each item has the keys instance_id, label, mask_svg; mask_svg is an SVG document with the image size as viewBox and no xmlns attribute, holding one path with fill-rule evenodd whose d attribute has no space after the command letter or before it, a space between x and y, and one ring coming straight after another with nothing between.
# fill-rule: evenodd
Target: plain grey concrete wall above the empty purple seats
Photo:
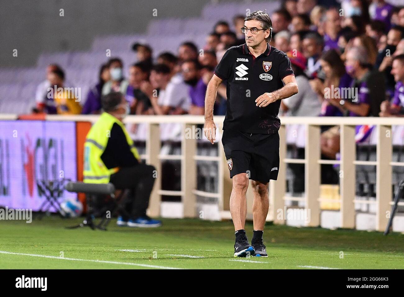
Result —
<instances>
[{"instance_id":1,"label":"plain grey concrete wall above the empty purple seats","mask_svg":"<svg viewBox=\"0 0 404 297\"><path fill-rule=\"evenodd\" d=\"M142 33L152 18L197 17L208 2L0 0L0 67L34 66L42 52L86 51L99 35Z\"/></svg>"}]
</instances>

